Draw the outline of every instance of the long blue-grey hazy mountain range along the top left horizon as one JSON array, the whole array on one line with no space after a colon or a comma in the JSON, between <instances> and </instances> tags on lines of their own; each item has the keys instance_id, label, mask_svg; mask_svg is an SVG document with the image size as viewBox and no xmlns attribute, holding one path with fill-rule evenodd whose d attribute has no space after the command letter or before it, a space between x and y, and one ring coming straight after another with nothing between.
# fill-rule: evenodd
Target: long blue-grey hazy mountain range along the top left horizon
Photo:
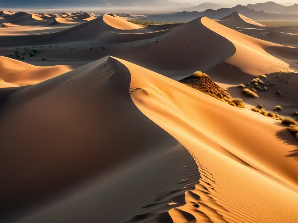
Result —
<instances>
[{"instance_id":1,"label":"long blue-grey hazy mountain range along the top left horizon","mask_svg":"<svg viewBox=\"0 0 298 223\"><path fill-rule=\"evenodd\" d=\"M117 7L138 7L138 6L168 6L187 7L193 4L173 3L168 0L0 0L0 7L31 8L31 7L89 7L89 6L117 6Z\"/></svg>"}]
</instances>

